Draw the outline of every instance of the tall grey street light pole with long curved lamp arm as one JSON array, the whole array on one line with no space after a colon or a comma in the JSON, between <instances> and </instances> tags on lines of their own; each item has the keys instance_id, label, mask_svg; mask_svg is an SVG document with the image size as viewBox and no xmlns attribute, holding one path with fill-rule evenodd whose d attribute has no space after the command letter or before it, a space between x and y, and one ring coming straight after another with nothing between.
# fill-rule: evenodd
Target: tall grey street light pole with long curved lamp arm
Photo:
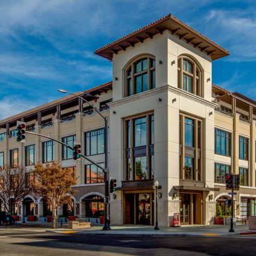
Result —
<instances>
[{"instance_id":1,"label":"tall grey street light pole with long curved lamp arm","mask_svg":"<svg viewBox=\"0 0 256 256\"><path fill-rule=\"evenodd\" d=\"M97 108L95 108L92 104L90 104L89 101L87 101L86 99L84 99L83 97L76 95L75 93L71 93L71 92L67 92L66 90L58 90L58 92L61 93L68 93L70 95L76 96L77 98L82 99L84 102L86 102L87 104L89 104L103 119L104 119L104 150L105 150L105 170L104 172L104 183L105 183L105 198L104 198L104 226L102 228L102 230L110 230L110 217L108 215L108 208L109 208L109 189L108 189L108 173L109 173L109 169L108 169L108 157L107 157L107 146L108 146L108 136L107 136L107 131L108 131L108 118L107 116L102 116L102 114L99 112L99 110Z\"/></svg>"}]
</instances>

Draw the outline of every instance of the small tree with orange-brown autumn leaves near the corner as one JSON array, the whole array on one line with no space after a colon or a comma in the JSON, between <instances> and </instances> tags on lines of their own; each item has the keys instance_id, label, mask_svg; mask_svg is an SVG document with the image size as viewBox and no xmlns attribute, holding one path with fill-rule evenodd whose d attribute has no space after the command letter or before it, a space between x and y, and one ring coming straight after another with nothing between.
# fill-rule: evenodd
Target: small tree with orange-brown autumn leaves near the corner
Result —
<instances>
[{"instance_id":1,"label":"small tree with orange-brown autumn leaves near the corner","mask_svg":"<svg viewBox=\"0 0 256 256\"><path fill-rule=\"evenodd\" d=\"M76 184L75 173L63 169L60 163L37 163L34 167L35 182L33 190L36 195L43 196L52 207L52 228L57 228L57 209L72 201L75 193L71 186Z\"/></svg>"}]
</instances>

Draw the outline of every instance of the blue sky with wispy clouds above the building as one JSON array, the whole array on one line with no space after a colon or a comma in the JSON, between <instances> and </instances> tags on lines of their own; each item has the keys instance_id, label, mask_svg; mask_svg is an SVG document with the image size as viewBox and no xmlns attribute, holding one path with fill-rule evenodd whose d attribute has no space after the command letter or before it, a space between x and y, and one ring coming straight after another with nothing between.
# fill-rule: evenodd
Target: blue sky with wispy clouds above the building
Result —
<instances>
[{"instance_id":1,"label":"blue sky with wispy clouds above the building","mask_svg":"<svg viewBox=\"0 0 256 256\"><path fill-rule=\"evenodd\" d=\"M213 83L256 100L256 3L0 0L0 119L111 80L94 50L172 13L230 52Z\"/></svg>"}]
</instances>

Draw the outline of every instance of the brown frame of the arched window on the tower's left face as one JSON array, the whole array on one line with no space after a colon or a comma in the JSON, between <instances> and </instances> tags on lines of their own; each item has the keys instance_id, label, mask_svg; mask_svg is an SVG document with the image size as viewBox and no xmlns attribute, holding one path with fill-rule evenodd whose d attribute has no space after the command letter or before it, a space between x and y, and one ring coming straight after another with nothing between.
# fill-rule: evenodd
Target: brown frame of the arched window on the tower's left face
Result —
<instances>
[{"instance_id":1,"label":"brown frame of the arched window on the tower's left face","mask_svg":"<svg viewBox=\"0 0 256 256\"><path fill-rule=\"evenodd\" d=\"M147 60L147 69L140 70L140 72L135 72L135 65L140 61ZM154 63L154 65L153 65ZM131 73L130 73L131 72ZM129 74L130 73L130 74ZM143 75L147 74L147 89L143 90ZM154 75L153 75L154 74ZM136 77L142 76L142 91L136 93ZM129 81L131 81L131 93L129 92L130 86ZM129 63L128 67L125 69L125 97L136 95L138 93L143 93L148 90L155 89L155 57L153 55L143 55L134 59Z\"/></svg>"}]
</instances>

